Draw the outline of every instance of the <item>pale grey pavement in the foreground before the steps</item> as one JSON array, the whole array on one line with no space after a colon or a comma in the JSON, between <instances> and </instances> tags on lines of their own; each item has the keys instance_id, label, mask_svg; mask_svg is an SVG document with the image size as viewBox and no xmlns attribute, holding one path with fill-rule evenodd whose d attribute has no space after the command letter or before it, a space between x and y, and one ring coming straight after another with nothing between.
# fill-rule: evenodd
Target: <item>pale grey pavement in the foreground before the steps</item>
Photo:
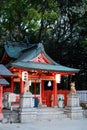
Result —
<instances>
[{"instance_id":1,"label":"pale grey pavement in the foreground before the steps","mask_svg":"<svg viewBox=\"0 0 87 130\"><path fill-rule=\"evenodd\" d=\"M80 120L37 120L29 123L0 124L0 130L87 130L87 118Z\"/></svg>"}]
</instances>

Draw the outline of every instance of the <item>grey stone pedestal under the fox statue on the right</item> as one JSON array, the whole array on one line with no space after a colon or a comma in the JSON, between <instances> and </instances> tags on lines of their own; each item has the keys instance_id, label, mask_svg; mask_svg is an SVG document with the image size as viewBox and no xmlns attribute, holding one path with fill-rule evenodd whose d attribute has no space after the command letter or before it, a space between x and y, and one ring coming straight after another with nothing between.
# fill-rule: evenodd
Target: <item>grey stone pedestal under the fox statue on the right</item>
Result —
<instances>
[{"instance_id":1,"label":"grey stone pedestal under the fox statue on the right","mask_svg":"<svg viewBox=\"0 0 87 130\"><path fill-rule=\"evenodd\" d=\"M69 94L67 100L67 106L64 110L67 117L71 119L83 119L83 110L80 107L79 97L77 94Z\"/></svg>"}]
</instances>

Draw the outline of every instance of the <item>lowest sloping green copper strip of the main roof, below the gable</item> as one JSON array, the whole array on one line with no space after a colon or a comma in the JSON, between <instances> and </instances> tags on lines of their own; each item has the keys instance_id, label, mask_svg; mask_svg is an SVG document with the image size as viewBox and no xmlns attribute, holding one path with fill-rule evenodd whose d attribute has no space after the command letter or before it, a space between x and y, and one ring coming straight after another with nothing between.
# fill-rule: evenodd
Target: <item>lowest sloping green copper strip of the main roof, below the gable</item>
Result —
<instances>
[{"instance_id":1,"label":"lowest sloping green copper strip of the main roof, below the gable","mask_svg":"<svg viewBox=\"0 0 87 130\"><path fill-rule=\"evenodd\" d=\"M74 69L66 66L62 66L59 64L42 64L42 63L34 63L34 62L14 62L12 63L13 67L23 68L23 69L34 69L34 70L45 70L45 71L54 71L54 72L75 72L77 73L79 69Z\"/></svg>"}]
</instances>

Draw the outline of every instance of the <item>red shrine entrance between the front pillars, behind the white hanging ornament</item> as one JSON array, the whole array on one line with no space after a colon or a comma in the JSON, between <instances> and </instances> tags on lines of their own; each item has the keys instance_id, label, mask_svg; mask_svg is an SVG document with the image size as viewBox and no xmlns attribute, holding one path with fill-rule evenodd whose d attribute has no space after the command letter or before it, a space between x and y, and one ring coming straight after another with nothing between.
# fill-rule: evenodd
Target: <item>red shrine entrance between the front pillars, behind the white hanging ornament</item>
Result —
<instances>
[{"instance_id":1,"label":"red shrine entrance between the front pillars, behind the white hanging ornament","mask_svg":"<svg viewBox=\"0 0 87 130\"><path fill-rule=\"evenodd\" d=\"M43 86L44 82L44 86ZM50 82L50 85L49 85ZM33 94L34 98L38 98L38 103L46 105L47 107L52 106L53 102L53 81L38 81L31 80L31 85L29 86L30 92Z\"/></svg>"}]
</instances>

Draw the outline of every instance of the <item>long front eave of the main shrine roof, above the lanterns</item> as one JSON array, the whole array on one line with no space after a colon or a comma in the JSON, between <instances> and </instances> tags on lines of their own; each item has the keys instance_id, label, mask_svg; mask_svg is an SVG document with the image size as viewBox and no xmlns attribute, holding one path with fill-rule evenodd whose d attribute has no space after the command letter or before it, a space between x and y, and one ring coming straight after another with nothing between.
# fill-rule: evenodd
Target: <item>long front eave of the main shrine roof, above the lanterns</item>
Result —
<instances>
[{"instance_id":1,"label":"long front eave of the main shrine roof, above the lanterns","mask_svg":"<svg viewBox=\"0 0 87 130\"><path fill-rule=\"evenodd\" d=\"M22 69L26 69L26 70L43 70L43 71L52 71L52 72L66 72L66 73L78 73L79 69L74 69L74 68L69 68L69 67L65 67L64 69L60 69L60 67L64 67L64 66L59 66L59 65L49 65L47 64L40 64L38 65L37 63L34 63L34 67L32 66L28 66L28 64L24 65L23 63L19 62L19 65L17 63L12 63L13 67L16 68L22 68ZM45 66L44 66L45 65ZM40 67L39 67L40 66ZM42 66L42 67L41 67ZM44 67L43 67L44 66Z\"/></svg>"}]
</instances>

